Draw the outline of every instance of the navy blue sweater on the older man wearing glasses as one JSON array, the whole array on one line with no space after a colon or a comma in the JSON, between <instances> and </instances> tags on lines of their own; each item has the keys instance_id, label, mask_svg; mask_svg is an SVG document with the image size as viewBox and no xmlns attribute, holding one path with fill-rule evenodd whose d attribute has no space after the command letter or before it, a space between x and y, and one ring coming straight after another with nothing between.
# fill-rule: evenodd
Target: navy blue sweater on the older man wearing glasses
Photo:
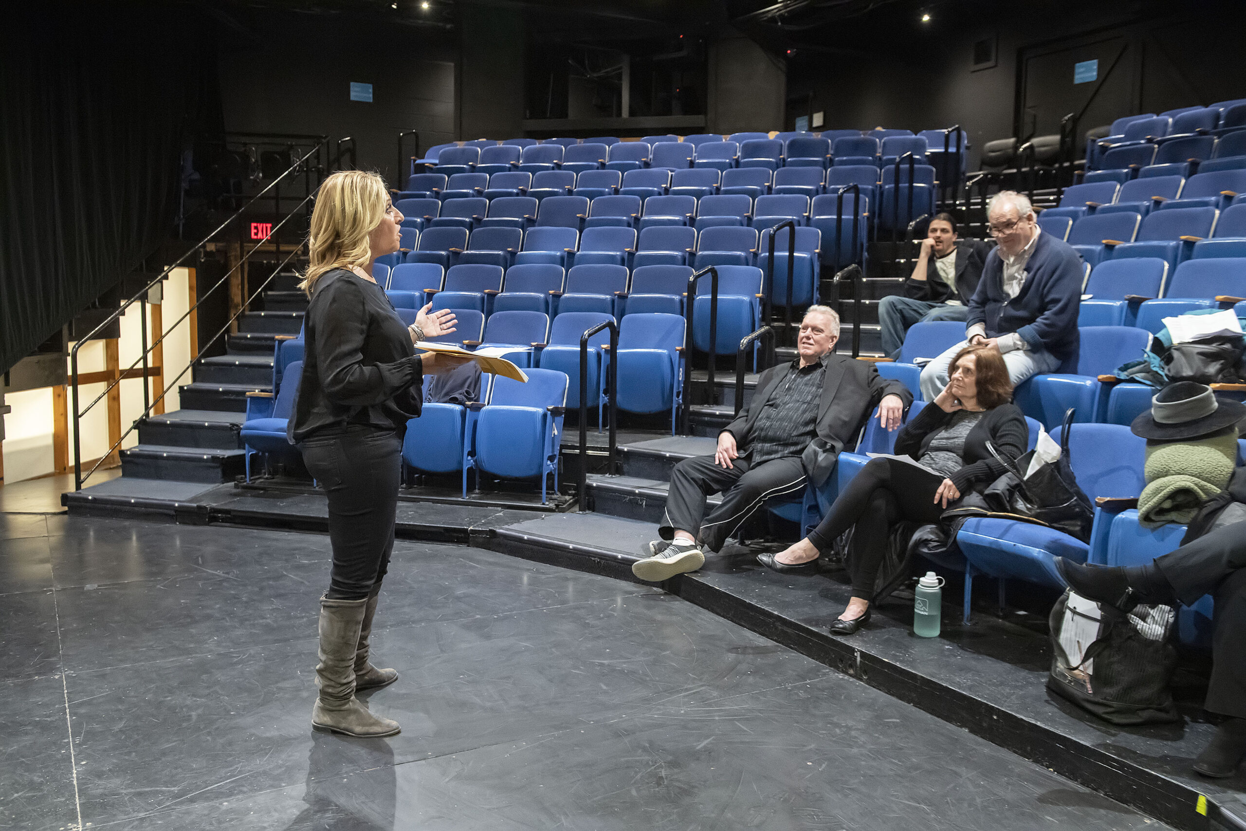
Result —
<instances>
[{"instance_id":1,"label":"navy blue sweater on the older man wearing glasses","mask_svg":"<svg viewBox=\"0 0 1246 831\"><path fill-rule=\"evenodd\" d=\"M969 300L966 329L976 323L987 338L1015 331L1032 350L1068 361L1078 355L1078 309L1082 306L1082 258L1045 230L1025 264L1025 282L1012 300L1004 294L1004 262L996 248L987 257L978 289Z\"/></svg>"}]
</instances>

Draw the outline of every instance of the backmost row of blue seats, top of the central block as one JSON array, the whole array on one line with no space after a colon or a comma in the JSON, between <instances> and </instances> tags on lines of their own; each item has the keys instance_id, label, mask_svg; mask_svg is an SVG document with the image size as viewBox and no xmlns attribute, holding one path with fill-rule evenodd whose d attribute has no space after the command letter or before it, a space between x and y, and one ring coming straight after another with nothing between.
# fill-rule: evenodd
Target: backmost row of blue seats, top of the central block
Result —
<instances>
[{"instance_id":1,"label":"backmost row of blue seats, top of the central block","mask_svg":"<svg viewBox=\"0 0 1246 831\"><path fill-rule=\"evenodd\" d=\"M644 168L688 169L706 168L729 171L760 167L776 171L785 167L812 167L870 164L887 166L897 158L912 157L916 163L927 163L925 136L892 136L881 142L872 136L836 138L792 138L782 142L775 138L689 145L685 142L659 142L652 147L645 142L619 142L617 145L535 145L531 147L496 146L449 147L441 151L432 173L506 173L511 171L540 173L543 171L612 169L629 172Z\"/></svg>"}]
</instances>

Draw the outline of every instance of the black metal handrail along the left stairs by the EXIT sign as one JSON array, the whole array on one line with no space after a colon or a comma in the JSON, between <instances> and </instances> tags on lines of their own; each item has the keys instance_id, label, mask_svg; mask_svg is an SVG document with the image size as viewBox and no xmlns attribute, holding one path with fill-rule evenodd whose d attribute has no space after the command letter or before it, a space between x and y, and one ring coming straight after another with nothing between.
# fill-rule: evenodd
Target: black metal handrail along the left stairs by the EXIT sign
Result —
<instances>
[{"instance_id":1,"label":"black metal handrail along the left stairs by the EXIT sign","mask_svg":"<svg viewBox=\"0 0 1246 831\"><path fill-rule=\"evenodd\" d=\"M133 297L131 297L128 300L126 300L123 304L121 304L112 314L110 314L107 318L105 318L105 320L102 320L100 324L97 324L95 326L95 329L92 329L87 335L78 338L75 341L74 348L70 350L70 378L71 378L70 386L71 386L71 404L72 404L71 419L74 421L74 486L75 486L76 491L81 491L82 490L82 482L85 482L87 478L90 478L100 468L100 466L105 461L108 460L108 457L113 453L113 451L116 451L118 447L121 447L121 445L122 445L122 442L125 442L126 437L130 436L130 434L133 432L137 429L138 422L142 421L143 419L146 419L151 414L151 410L157 404L159 404L161 401L164 400L164 396L173 387L173 385L177 384L177 381L179 381L182 379L182 376L186 375L186 373L189 371L191 366L193 365L193 359L192 359L192 363L188 364L186 366L186 369L183 369L177 375L177 378L173 379L172 384L169 384L168 386L166 386L161 391L161 394L158 396L156 396L155 400L151 400L151 394L150 394L150 390L147 387L147 379L152 376L151 375L151 369L148 366L148 355L152 351L155 351L156 348L159 346L164 341L164 339L168 336L168 334L173 329L176 329L183 320L188 319L191 316L191 314L194 313L198 309L198 306L213 292L216 292L221 285L223 285L226 282L228 282L229 277L234 272L237 272L239 268L242 268L242 265L250 259L250 255L254 254L255 250L258 250L260 245L263 245L265 242L268 242L269 239L272 239L277 234L277 232L280 230L282 227L285 226L285 223L290 221L290 218L293 218L294 216L297 216L298 212L304 206L307 206L309 202L312 202L314 199L315 191L313 191L312 193L308 193L299 202L299 204L294 207L294 209L292 209L279 222L274 223L273 227L269 229L268 234L263 239L257 240L255 245L249 252L247 252L245 255L240 257L239 260L238 260L238 263L232 269L229 269L212 288L209 288L207 292L203 292L202 294L199 294L198 299L196 300L196 303L193 305L191 305L181 318L178 318L171 325L164 326L164 333L162 333L159 335L159 338L157 338L151 345L148 345L147 344L147 299L148 299L148 295L150 295L151 290L161 280L166 279L174 269L181 268L182 264L186 262L186 259L188 257L191 257L191 254L202 253L202 249L203 249L204 245L207 245L208 243L211 243L213 240L213 238L216 238L226 228L228 228L232 223L234 223L237 219L239 219L243 216L243 213L248 208L250 208L257 201L259 201L262 198L265 198L268 191L277 188L279 186L279 183L282 182L282 179L284 179L287 176L297 174L300 171L303 171L303 166L308 162L308 159L312 158L312 156L316 156L318 157L316 158L316 166L315 166L315 168L316 168L318 173L323 174L324 173L324 168L323 168L323 166L320 163L323 161L321 153L326 150L328 141L329 141L328 137L320 137L320 141L318 141L316 145L312 150L309 150L304 156L302 156L293 164L290 164L290 167L287 168L287 171L284 173L282 173L280 176L275 177L264 189L262 189L259 193L257 193L254 197L252 197L242 208L239 208L237 212L234 212L216 230L213 230L211 234L208 234L197 245L194 245L193 248L191 248L186 253L183 253L181 257L178 257L177 260L174 260L172 265L167 267L163 272L161 272L161 274L158 277L156 277L155 279L152 279L150 283L147 283L147 285L145 285L141 290L138 290ZM319 189L319 186L316 187L316 189ZM229 328L233 325L233 323L247 310L247 308L250 304L250 302L254 300L257 297L259 297L260 292L264 290L264 287L267 287L268 283L272 282L272 279L280 272L282 267L284 267L287 263L289 263L289 260L293 259L294 255L299 250L302 250L302 248L303 248L304 244L305 243L300 243L300 244L295 245L294 249L290 252L290 254L277 267L277 269L274 269L273 274L270 274L268 277L268 279L264 280L264 283L260 285L260 288L257 289L249 298L247 298L247 300L244 303L242 303L242 305L239 306L239 310L237 313L234 313L233 316L229 318L229 320L226 323L224 328L221 331L218 331L216 335L213 335L212 339L209 339L207 341L209 346L221 335L223 335L226 331L229 330ZM102 331L105 326L107 326L108 324L111 324L115 320L120 319L126 313L126 310L130 309L130 306L132 306L135 303L140 304L140 310L142 311L141 320L140 320L140 330L141 330L141 339L142 339L142 355L138 359L136 359L133 363L131 363L128 368L120 369L117 371L117 378L113 379L111 382L108 382L107 386L105 387L105 390L98 396L96 396L96 399L93 401L91 401L91 404L88 404L86 406L86 409L80 409L80 406L78 406L78 404L80 404L80 401L78 401L78 387L80 387L78 350L82 348L83 344L88 343L92 338L95 338L95 335L97 335L100 331ZM197 356L198 354L201 354L202 350L199 349L198 344L192 344L191 351L192 351L192 355ZM123 381L123 380L131 380L131 379L136 378L136 375L133 375L132 373L133 373L133 370L140 364L142 364L142 366L143 366L143 369L142 369L142 381L143 381L143 412L142 412L142 415L138 419L136 419L133 424L131 424L130 429L126 430L121 435L121 437L116 442L113 442L108 447L108 450L105 451L105 453L102 456L100 456L98 460L96 460L95 465L86 473L86 476L82 476L82 439L81 439L81 430L80 430L82 416L85 416L87 412L90 412L91 409L95 407L95 405L97 405L101 400L103 400L113 389L116 389L121 384L121 381Z\"/></svg>"}]
</instances>

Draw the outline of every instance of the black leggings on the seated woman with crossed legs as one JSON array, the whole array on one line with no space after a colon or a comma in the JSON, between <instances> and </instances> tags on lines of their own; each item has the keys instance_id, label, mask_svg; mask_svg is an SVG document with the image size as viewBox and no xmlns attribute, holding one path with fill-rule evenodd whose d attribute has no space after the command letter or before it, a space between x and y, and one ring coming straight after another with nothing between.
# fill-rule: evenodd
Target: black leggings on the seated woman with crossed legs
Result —
<instances>
[{"instance_id":1,"label":"black leggings on the seated woman with crossed legs","mask_svg":"<svg viewBox=\"0 0 1246 831\"><path fill-rule=\"evenodd\" d=\"M943 476L895 458L871 458L840 492L809 541L822 552L845 531L852 532L852 597L873 598L878 564L887 552L887 536L897 522L937 522L943 508L934 493Z\"/></svg>"}]
</instances>

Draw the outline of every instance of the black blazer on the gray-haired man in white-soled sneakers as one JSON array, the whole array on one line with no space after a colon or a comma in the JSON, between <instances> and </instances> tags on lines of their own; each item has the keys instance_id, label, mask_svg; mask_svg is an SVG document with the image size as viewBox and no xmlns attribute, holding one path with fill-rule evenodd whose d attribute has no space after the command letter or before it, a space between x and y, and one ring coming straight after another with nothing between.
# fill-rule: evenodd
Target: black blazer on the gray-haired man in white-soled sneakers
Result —
<instances>
[{"instance_id":1,"label":"black blazer on the gray-haired man in white-soled sneakers","mask_svg":"<svg viewBox=\"0 0 1246 831\"><path fill-rule=\"evenodd\" d=\"M878 406L886 395L898 395L905 409L913 402L913 394L900 381L885 379L872 361L854 360L846 355L831 353L825 358L826 375L822 380L822 397L817 404L816 432L800 462L805 475L815 487L821 487L835 470L840 452L855 446L861 425L870 412ZM791 364L771 366L758 378L758 391L749 409L739 415L724 430L735 436L743 450L753 441L753 430L758 417L780 382L791 371ZM937 409L937 407L936 407Z\"/></svg>"}]
</instances>

